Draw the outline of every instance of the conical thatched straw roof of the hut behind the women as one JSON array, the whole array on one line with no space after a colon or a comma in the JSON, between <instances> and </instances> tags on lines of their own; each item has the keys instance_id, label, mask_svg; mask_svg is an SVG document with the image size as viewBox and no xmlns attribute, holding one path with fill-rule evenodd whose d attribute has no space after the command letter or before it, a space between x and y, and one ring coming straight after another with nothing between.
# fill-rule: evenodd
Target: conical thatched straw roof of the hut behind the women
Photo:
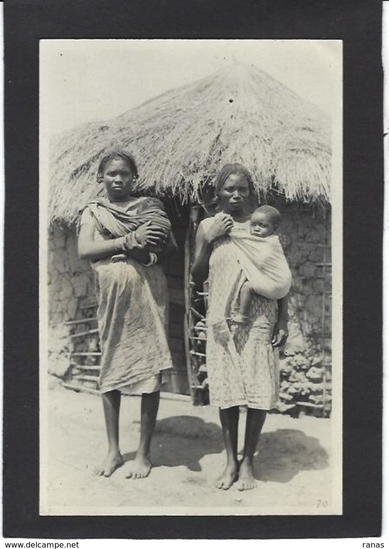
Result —
<instances>
[{"instance_id":1,"label":"conical thatched straw roof of the hut behind the women","mask_svg":"<svg viewBox=\"0 0 389 549\"><path fill-rule=\"evenodd\" d=\"M51 221L70 222L102 191L99 159L132 152L140 192L199 198L225 163L244 164L258 191L330 200L330 119L265 72L240 63L167 91L106 121L83 125L50 145Z\"/></svg>"}]
</instances>

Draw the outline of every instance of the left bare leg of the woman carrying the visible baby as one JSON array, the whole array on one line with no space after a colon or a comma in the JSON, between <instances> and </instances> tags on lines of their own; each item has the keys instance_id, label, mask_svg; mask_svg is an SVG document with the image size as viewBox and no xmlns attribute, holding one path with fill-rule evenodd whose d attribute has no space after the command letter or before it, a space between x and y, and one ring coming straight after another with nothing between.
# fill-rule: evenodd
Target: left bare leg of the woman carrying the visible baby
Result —
<instances>
[{"instance_id":1,"label":"left bare leg of the woman carrying the visible baby","mask_svg":"<svg viewBox=\"0 0 389 549\"><path fill-rule=\"evenodd\" d=\"M219 410L227 464L215 481L216 488L228 490L238 478L238 424L239 406Z\"/></svg>"}]
</instances>

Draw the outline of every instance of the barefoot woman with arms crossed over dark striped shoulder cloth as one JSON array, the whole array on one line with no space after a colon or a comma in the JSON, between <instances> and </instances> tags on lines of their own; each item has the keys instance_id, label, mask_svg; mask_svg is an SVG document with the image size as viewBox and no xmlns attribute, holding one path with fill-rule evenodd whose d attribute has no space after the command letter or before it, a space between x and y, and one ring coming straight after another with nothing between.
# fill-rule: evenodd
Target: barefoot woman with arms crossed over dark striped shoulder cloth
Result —
<instances>
[{"instance_id":1,"label":"barefoot woman with arms crossed over dark striped shoulder cloth","mask_svg":"<svg viewBox=\"0 0 389 549\"><path fill-rule=\"evenodd\" d=\"M141 394L140 443L127 478L146 477L159 407L161 373L171 368L167 344L167 283L159 265L174 248L159 200L131 195L138 170L131 154L115 150L100 162L106 199L82 212L78 254L91 261L102 348L99 385L108 455L95 474L109 477L123 464L119 447L121 393Z\"/></svg>"}]
</instances>

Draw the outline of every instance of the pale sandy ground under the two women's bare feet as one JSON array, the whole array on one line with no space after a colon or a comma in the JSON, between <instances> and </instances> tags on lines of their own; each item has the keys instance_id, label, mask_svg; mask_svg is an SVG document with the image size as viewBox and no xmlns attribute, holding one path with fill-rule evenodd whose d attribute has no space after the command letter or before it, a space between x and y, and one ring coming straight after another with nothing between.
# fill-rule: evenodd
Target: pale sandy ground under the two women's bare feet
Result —
<instances>
[{"instance_id":1,"label":"pale sandy ground under the two women's bare feet","mask_svg":"<svg viewBox=\"0 0 389 549\"><path fill-rule=\"evenodd\" d=\"M139 440L139 397L123 397L121 447L125 461ZM239 447L243 447L241 412ZM331 421L269 414L256 455L257 489L213 486L224 464L217 409L161 399L148 478L125 478L126 464L110 478L95 477L105 456L98 396L57 386L48 391L47 444L43 441L43 514L328 513L331 510ZM47 448L47 453L44 449ZM46 477L46 479L45 479ZM47 491L46 491L47 484ZM194 509L196 508L196 509ZM212 512L212 511L211 511Z\"/></svg>"}]
</instances>

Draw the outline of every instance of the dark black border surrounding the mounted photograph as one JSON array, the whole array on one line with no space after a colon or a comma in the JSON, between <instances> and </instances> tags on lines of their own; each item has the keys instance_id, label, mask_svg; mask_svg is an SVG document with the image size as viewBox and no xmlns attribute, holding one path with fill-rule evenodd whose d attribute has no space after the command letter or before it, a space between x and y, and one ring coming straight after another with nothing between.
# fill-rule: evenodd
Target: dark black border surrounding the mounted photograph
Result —
<instances>
[{"instance_id":1,"label":"dark black border surrounding the mounted photograph","mask_svg":"<svg viewBox=\"0 0 389 549\"><path fill-rule=\"evenodd\" d=\"M6 0L4 20L3 535L57 539L380 535L381 2ZM151 37L343 40L343 516L234 520L38 516L38 41Z\"/></svg>"}]
</instances>

